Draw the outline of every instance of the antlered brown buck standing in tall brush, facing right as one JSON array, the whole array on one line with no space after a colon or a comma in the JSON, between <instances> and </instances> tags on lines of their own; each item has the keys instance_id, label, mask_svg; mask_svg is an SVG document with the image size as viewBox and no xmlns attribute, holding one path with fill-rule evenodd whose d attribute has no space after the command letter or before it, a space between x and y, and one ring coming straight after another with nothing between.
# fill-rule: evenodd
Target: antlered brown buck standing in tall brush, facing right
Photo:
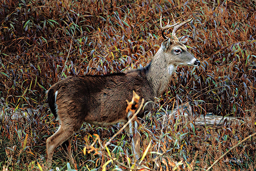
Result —
<instances>
[{"instance_id":1,"label":"antlered brown buck standing in tall brush, facing right","mask_svg":"<svg viewBox=\"0 0 256 171\"><path fill-rule=\"evenodd\" d=\"M48 89L49 108L60 124L46 141L49 166L52 165L54 150L59 145L67 145L68 158L73 160L72 138L84 122L99 126L127 123L130 118L126 112L127 100L132 99L133 92L143 98L145 104L154 102L155 97L160 97L168 89L177 66L200 66L200 61L184 45L189 36L180 39L176 36L177 30L192 20L183 20L180 24L174 20L173 25L169 25L168 20L168 24L163 27L161 16L160 27L164 40L151 62L143 68L105 75L70 76ZM169 38L165 31L171 27L174 28L172 38ZM143 118L153 108L153 103L147 103L137 117ZM132 133L129 126L126 131ZM140 138L135 139L135 143L139 144Z\"/></svg>"}]
</instances>

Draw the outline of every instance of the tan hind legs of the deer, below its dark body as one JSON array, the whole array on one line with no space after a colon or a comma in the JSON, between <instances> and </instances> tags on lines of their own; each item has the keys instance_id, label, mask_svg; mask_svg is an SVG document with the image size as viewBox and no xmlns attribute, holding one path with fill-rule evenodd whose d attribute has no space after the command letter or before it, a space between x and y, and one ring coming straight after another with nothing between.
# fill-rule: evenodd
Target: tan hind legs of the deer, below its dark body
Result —
<instances>
[{"instance_id":1,"label":"tan hind legs of the deer, below its dark body","mask_svg":"<svg viewBox=\"0 0 256 171\"><path fill-rule=\"evenodd\" d=\"M71 125L62 126L60 125L57 132L54 133L51 137L47 138L46 141L46 151L47 151L47 163L49 166L52 165L54 150L57 146L68 142L67 151L68 155L72 156L71 153L71 140L73 138L74 132L77 131Z\"/></svg>"}]
</instances>

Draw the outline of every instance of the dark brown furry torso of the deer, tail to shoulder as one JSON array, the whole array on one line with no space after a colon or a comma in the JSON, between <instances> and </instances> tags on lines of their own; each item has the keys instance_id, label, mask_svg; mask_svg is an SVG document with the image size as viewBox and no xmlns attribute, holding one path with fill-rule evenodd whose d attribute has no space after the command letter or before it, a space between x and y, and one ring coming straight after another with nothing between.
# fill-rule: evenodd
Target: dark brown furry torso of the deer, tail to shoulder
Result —
<instances>
[{"instance_id":1,"label":"dark brown furry torso of the deer, tail to shoulder","mask_svg":"<svg viewBox=\"0 0 256 171\"><path fill-rule=\"evenodd\" d=\"M135 91L145 102L154 100L152 87L146 78L148 67L107 75L72 76L48 90L48 104L55 118L66 124L83 121L94 125L127 122L126 100ZM144 111L150 111L149 103ZM137 115L144 116L144 112ZM69 122L69 123L67 123Z\"/></svg>"}]
</instances>

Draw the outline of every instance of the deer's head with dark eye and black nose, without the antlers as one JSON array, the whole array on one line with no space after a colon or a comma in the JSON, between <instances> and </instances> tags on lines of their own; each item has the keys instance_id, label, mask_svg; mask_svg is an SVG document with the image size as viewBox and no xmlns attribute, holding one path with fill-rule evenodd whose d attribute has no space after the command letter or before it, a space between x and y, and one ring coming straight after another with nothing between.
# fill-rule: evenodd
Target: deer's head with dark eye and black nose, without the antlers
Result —
<instances>
[{"instance_id":1,"label":"deer's head with dark eye and black nose, without the antlers","mask_svg":"<svg viewBox=\"0 0 256 171\"><path fill-rule=\"evenodd\" d=\"M183 44L188 41L188 36L183 36L179 41L170 38L165 39L161 45L163 52L168 58L168 65L173 66L200 66L200 61L188 52Z\"/></svg>"}]
</instances>

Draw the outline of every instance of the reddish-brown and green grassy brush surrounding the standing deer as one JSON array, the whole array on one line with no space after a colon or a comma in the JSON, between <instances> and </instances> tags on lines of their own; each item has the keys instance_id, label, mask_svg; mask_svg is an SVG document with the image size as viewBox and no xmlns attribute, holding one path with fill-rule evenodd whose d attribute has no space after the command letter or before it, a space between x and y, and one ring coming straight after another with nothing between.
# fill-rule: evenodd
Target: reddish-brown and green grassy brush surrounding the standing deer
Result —
<instances>
[{"instance_id":1,"label":"reddish-brown and green grassy brush surrounding the standing deer","mask_svg":"<svg viewBox=\"0 0 256 171\"><path fill-rule=\"evenodd\" d=\"M213 171L256 169L256 137L243 141L256 132L255 0L0 0L0 171L44 170L46 139L58 129L46 90L70 75L146 66L163 41L161 15L164 24L194 18L177 36L190 36L201 66L178 67L144 118L143 157L133 164L125 132L102 147L122 124L84 124L72 142L75 165L59 147L52 169L193 171L215 161ZM196 115L240 121L164 120L186 102Z\"/></svg>"}]
</instances>

